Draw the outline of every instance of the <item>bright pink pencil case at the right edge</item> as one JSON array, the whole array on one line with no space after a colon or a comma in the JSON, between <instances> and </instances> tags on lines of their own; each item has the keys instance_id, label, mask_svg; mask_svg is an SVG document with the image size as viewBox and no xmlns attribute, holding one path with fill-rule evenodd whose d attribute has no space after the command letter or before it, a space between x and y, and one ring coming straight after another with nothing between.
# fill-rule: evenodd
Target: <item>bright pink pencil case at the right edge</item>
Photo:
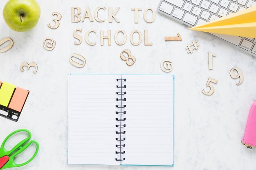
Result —
<instances>
[{"instance_id":1,"label":"bright pink pencil case at the right edge","mask_svg":"<svg viewBox=\"0 0 256 170\"><path fill-rule=\"evenodd\" d=\"M250 149L256 147L256 101L250 108L242 143Z\"/></svg>"}]
</instances>

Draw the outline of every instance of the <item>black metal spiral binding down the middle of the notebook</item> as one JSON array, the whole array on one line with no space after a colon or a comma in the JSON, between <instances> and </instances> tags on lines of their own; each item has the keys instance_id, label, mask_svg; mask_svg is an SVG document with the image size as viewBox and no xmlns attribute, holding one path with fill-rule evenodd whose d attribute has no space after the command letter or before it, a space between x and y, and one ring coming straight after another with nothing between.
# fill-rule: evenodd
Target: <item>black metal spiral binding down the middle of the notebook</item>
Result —
<instances>
[{"instance_id":1,"label":"black metal spiral binding down the middle of the notebook","mask_svg":"<svg viewBox=\"0 0 256 170\"><path fill-rule=\"evenodd\" d=\"M120 102L120 105L116 105L116 108L119 108L119 111L116 112L117 115L119 115L118 118L116 118L116 121L118 121L118 124L116 125L117 128L120 128L119 131L116 131L117 135L120 135L120 137L116 138L116 141L119 141L119 144L116 145L116 148L119 148L118 151L115 153L119 155L119 158L116 158L116 161L124 161L125 158L121 158L121 155L125 154L125 151L121 150L125 147L125 144L122 144L122 141L125 141L126 138L122 137L126 133L126 131L122 130L122 128L126 127L126 124L122 124L122 122L126 121L126 118L124 115L126 114L126 111L123 111L124 108L126 108L126 105L122 104L122 102L126 101L126 98L123 97L123 95L126 95L126 91L123 91L124 88L126 88L126 85L123 85L123 82L126 82L126 79L116 79L117 82L121 82L121 85L117 85L116 88L119 89L116 94L120 95L119 98L116 99L117 102Z\"/></svg>"}]
</instances>

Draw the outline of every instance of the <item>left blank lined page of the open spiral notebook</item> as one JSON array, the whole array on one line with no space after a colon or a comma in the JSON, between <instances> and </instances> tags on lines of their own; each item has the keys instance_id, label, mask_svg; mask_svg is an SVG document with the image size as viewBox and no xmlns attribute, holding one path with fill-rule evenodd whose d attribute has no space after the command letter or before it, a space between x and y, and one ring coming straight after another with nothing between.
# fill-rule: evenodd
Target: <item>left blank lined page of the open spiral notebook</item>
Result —
<instances>
[{"instance_id":1,"label":"left blank lined page of the open spiral notebook","mask_svg":"<svg viewBox=\"0 0 256 170\"><path fill-rule=\"evenodd\" d=\"M119 165L115 107L120 75L70 75L68 164Z\"/></svg>"}]
</instances>

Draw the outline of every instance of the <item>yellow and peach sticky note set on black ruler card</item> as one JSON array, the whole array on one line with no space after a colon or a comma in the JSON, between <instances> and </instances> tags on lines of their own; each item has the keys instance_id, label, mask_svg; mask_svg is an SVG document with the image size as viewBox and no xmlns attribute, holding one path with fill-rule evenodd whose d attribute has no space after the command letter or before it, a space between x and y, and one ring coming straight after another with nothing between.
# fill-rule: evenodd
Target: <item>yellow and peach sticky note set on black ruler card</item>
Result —
<instances>
[{"instance_id":1,"label":"yellow and peach sticky note set on black ruler card","mask_svg":"<svg viewBox=\"0 0 256 170\"><path fill-rule=\"evenodd\" d=\"M0 116L18 121L28 95L28 90L0 82Z\"/></svg>"}]
</instances>

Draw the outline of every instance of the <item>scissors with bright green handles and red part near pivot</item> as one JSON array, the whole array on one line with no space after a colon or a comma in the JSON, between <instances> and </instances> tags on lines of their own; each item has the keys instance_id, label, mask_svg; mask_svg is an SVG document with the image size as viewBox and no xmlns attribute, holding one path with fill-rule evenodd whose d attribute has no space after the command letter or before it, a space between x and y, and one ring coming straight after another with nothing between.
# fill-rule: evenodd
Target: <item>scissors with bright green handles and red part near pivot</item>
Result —
<instances>
[{"instance_id":1,"label":"scissors with bright green handles and red part near pivot","mask_svg":"<svg viewBox=\"0 0 256 170\"><path fill-rule=\"evenodd\" d=\"M29 136L26 139L22 140L20 143L18 143L16 146L14 146L12 150L9 150L9 151L5 150L4 149L5 142L9 139L9 137L11 137L12 135L14 135L18 132L27 132ZM6 168L14 168L14 167L24 166L27 163L31 162L36 157L36 154L39 149L39 144L37 141L34 141L34 140L29 141L30 138L31 138L31 132L29 130L20 129L20 130L16 130L16 131L12 132L10 135L8 135L4 139L2 146L0 148L0 170L6 169ZM27 149L27 147L29 147L32 143L36 144L36 152L34 153L33 157L31 157L25 163L16 164L14 162L15 157L17 155L19 155L21 152L23 152L25 149Z\"/></svg>"}]
</instances>

